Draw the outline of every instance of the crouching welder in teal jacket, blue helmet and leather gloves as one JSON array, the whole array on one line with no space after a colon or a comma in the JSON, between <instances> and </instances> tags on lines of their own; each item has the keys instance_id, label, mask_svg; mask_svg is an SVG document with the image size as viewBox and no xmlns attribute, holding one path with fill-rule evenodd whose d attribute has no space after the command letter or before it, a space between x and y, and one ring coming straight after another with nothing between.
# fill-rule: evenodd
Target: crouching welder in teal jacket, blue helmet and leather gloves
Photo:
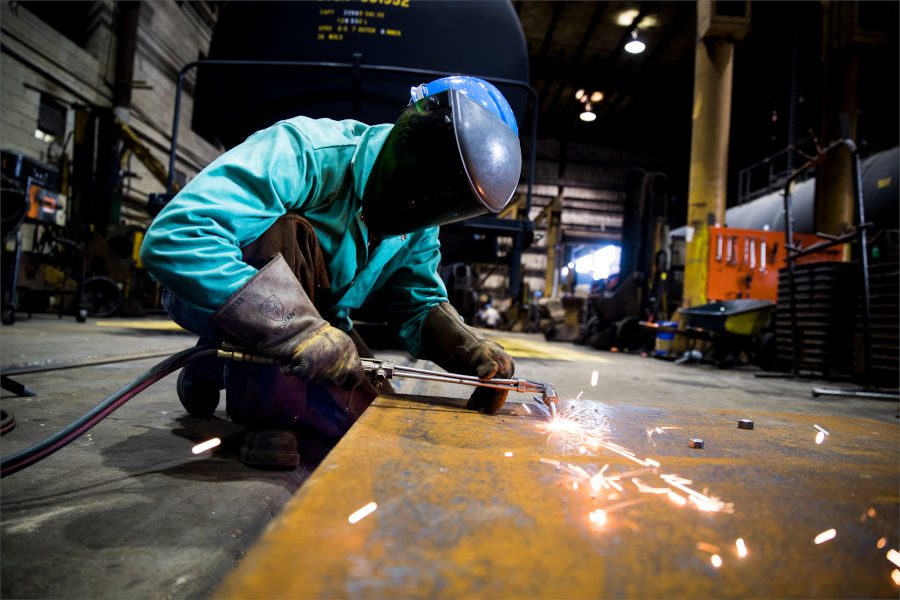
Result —
<instances>
[{"instance_id":1,"label":"crouching welder in teal jacket, blue helmet and leather gloves","mask_svg":"<svg viewBox=\"0 0 900 600\"><path fill-rule=\"evenodd\" d=\"M177 383L184 408L211 416L224 389L247 428L241 460L297 466L298 431L340 436L376 395L351 320L370 298L414 357L511 377L512 358L449 304L438 231L502 210L520 171L508 102L468 76L412 88L393 125L295 117L224 153L159 213L141 259L199 343L282 366L192 363ZM476 388L468 407L493 414L507 394Z\"/></svg>"}]
</instances>

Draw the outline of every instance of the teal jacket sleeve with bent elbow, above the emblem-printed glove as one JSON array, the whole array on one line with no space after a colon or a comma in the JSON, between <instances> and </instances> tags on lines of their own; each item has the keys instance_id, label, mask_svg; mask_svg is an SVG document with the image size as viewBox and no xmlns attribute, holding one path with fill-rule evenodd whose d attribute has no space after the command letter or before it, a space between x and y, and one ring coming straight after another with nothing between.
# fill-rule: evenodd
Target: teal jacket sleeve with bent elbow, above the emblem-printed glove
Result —
<instances>
[{"instance_id":1,"label":"teal jacket sleeve with bent elbow, above the emblem-printed glove","mask_svg":"<svg viewBox=\"0 0 900 600\"><path fill-rule=\"evenodd\" d=\"M148 271L212 314L256 269L241 248L315 196L318 167L299 129L259 131L198 174L159 213L141 246Z\"/></svg>"}]
</instances>

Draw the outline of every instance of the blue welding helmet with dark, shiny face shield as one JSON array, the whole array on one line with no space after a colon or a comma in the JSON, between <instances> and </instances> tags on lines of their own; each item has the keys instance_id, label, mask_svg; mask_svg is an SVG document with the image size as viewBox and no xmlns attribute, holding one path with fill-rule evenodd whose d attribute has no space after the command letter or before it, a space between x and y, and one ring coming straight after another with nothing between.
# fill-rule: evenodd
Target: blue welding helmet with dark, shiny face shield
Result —
<instances>
[{"instance_id":1,"label":"blue welding helmet with dark, shiny face shield","mask_svg":"<svg viewBox=\"0 0 900 600\"><path fill-rule=\"evenodd\" d=\"M502 94L496 92L491 108L453 87L434 93L432 85L413 88L366 182L363 219L375 233L399 235L498 213L518 185L522 153ZM490 98L485 91L482 99Z\"/></svg>"}]
</instances>

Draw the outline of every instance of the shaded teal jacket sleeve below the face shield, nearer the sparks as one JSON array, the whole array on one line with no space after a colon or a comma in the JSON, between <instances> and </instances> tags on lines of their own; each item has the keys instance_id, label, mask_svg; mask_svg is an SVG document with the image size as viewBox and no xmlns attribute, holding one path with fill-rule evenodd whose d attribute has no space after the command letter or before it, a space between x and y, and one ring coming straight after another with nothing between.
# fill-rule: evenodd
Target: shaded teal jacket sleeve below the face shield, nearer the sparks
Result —
<instances>
[{"instance_id":1,"label":"shaded teal jacket sleeve below the face shield, nearer the sparks","mask_svg":"<svg viewBox=\"0 0 900 600\"><path fill-rule=\"evenodd\" d=\"M438 228L413 234L410 252L385 286L385 310L397 337L414 357L422 354L422 323L428 312L447 299L447 288L438 274L441 243Z\"/></svg>"}]
</instances>

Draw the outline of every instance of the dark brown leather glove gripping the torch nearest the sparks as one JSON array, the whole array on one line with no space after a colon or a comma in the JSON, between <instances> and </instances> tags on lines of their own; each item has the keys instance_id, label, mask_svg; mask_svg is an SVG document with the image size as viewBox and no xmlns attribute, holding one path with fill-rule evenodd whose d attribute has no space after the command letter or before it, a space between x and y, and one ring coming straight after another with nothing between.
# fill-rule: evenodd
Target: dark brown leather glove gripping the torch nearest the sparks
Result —
<instances>
[{"instance_id":1,"label":"dark brown leather glove gripping the torch nearest the sparks","mask_svg":"<svg viewBox=\"0 0 900 600\"><path fill-rule=\"evenodd\" d=\"M423 358L451 373L476 375L479 379L509 379L515 373L512 357L503 346L467 326L450 304L438 304L422 325ZM471 410L496 414L506 402L509 390L476 388L466 405Z\"/></svg>"}]
</instances>

